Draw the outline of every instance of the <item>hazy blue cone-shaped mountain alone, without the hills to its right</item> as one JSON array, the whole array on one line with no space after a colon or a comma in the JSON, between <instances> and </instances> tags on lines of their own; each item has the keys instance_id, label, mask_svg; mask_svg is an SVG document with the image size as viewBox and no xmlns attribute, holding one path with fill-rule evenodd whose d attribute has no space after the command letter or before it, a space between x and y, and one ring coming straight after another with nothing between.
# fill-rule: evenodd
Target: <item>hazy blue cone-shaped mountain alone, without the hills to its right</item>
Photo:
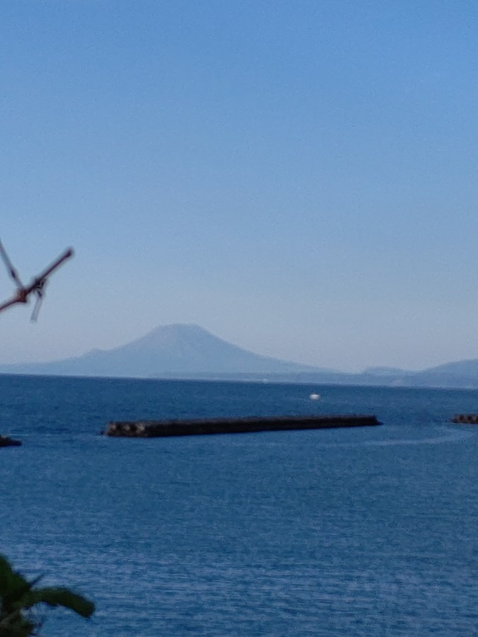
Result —
<instances>
[{"instance_id":1,"label":"hazy blue cone-shaped mountain alone, without the hills to its right","mask_svg":"<svg viewBox=\"0 0 478 637\"><path fill-rule=\"evenodd\" d=\"M174 377L187 374L320 372L293 362L261 356L227 343L197 325L160 326L113 350L56 362L14 365L1 371L111 377Z\"/></svg>"}]
</instances>

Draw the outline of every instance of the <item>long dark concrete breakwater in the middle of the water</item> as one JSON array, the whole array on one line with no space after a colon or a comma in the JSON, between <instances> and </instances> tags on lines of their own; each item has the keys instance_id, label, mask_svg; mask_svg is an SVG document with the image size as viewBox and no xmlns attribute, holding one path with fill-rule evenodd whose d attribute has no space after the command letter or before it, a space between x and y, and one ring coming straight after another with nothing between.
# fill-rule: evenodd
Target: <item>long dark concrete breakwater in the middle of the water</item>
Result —
<instances>
[{"instance_id":1,"label":"long dark concrete breakwater in the middle of the water","mask_svg":"<svg viewBox=\"0 0 478 637\"><path fill-rule=\"evenodd\" d=\"M113 421L107 436L154 438L169 436L250 433L335 427L370 427L381 425L375 415L270 416L254 418L207 418L204 420L135 420Z\"/></svg>"}]
</instances>

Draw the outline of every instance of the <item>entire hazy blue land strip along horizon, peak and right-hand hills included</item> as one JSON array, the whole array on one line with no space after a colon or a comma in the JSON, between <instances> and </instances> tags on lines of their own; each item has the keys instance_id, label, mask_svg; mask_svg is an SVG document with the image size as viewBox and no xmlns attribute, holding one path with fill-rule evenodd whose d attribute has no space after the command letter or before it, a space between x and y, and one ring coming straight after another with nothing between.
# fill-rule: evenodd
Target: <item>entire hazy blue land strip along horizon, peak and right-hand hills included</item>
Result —
<instances>
[{"instance_id":1,"label":"entire hazy blue land strip along horizon, peak and right-hand hills included","mask_svg":"<svg viewBox=\"0 0 478 637\"><path fill-rule=\"evenodd\" d=\"M182 323L159 326L110 350L91 350L52 362L0 365L0 373L478 389L478 360L450 362L421 372L369 367L352 374L255 354L198 325Z\"/></svg>"}]
</instances>

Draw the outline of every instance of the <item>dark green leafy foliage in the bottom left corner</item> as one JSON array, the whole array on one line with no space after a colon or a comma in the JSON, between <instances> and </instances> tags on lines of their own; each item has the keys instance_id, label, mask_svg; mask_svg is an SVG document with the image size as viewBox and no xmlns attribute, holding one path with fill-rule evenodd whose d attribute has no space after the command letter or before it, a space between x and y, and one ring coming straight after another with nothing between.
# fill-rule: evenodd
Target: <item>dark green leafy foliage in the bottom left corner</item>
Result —
<instances>
[{"instance_id":1,"label":"dark green leafy foliage in the bottom left corner","mask_svg":"<svg viewBox=\"0 0 478 637\"><path fill-rule=\"evenodd\" d=\"M38 604L62 606L85 618L93 614L94 604L85 597L62 587L37 588L40 579L28 582L0 555L0 637L38 635L42 621L32 612Z\"/></svg>"}]
</instances>

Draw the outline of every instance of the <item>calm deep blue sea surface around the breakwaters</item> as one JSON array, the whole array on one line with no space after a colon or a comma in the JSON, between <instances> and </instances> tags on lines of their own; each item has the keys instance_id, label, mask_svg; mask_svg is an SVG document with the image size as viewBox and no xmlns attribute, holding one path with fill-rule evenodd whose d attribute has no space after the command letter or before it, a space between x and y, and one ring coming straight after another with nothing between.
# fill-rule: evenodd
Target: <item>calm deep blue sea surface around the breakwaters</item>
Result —
<instances>
[{"instance_id":1,"label":"calm deep blue sea surface around the breakwaters","mask_svg":"<svg viewBox=\"0 0 478 637\"><path fill-rule=\"evenodd\" d=\"M317 390L321 401L310 401ZM0 377L0 551L97 604L67 636L478 634L478 392ZM375 413L125 440L108 420Z\"/></svg>"}]
</instances>

